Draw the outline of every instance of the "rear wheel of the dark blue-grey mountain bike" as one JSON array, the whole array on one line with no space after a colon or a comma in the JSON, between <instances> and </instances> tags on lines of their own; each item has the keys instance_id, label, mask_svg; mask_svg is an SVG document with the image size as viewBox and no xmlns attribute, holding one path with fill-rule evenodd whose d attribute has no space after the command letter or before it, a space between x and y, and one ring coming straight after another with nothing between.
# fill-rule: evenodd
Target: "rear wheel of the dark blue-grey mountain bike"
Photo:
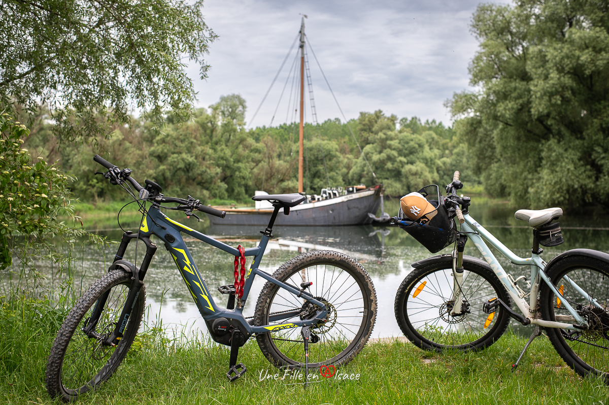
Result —
<instances>
[{"instance_id":1,"label":"rear wheel of the dark blue-grey mountain bike","mask_svg":"<svg viewBox=\"0 0 609 405\"><path fill-rule=\"evenodd\" d=\"M312 327L309 368L347 364L364 348L376 319L376 292L370 276L354 259L338 252L314 250L286 262L274 274L279 281L299 287L313 283L308 291L325 303L328 314ZM258 326L282 325L311 319L319 307L266 283L256 303ZM291 312L289 317L281 315ZM300 368L305 365L301 328L258 334L264 356L276 367Z\"/></svg>"}]
</instances>

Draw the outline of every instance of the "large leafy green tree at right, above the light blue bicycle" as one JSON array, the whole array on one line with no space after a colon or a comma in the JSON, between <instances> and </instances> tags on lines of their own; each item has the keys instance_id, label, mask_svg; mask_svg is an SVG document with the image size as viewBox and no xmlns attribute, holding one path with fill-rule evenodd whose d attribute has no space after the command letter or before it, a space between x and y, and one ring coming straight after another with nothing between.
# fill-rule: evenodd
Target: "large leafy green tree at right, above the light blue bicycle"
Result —
<instances>
[{"instance_id":1,"label":"large leafy green tree at right, above the light blue bicycle","mask_svg":"<svg viewBox=\"0 0 609 405\"><path fill-rule=\"evenodd\" d=\"M476 93L447 105L494 195L523 206L609 206L609 4L479 5Z\"/></svg>"}]
</instances>

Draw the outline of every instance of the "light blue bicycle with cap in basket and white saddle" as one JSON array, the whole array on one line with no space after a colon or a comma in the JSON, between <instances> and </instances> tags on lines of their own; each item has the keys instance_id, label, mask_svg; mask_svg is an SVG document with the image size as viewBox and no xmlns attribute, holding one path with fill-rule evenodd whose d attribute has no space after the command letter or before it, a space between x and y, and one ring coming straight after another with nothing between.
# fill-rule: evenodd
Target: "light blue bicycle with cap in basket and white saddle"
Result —
<instances>
[{"instance_id":1,"label":"light blue bicycle with cap in basket and white saddle","mask_svg":"<svg viewBox=\"0 0 609 405\"><path fill-rule=\"evenodd\" d=\"M468 213L469 197L459 197L459 172L446 186L419 192L435 211L412 222L400 212L392 225L403 228L432 253L455 244L449 255L433 256L412 264L395 298L395 316L403 333L420 348L478 350L489 347L507 329L510 317L535 325L512 370L545 329L558 354L582 376L603 376L609 383L609 255L589 249L561 253L546 263L543 246L563 242L560 208L519 210L517 219L533 228L532 255L521 258L498 241ZM454 217L460 222L457 230ZM484 261L463 255L468 241ZM487 242L510 262L530 266L530 278L516 280L505 273ZM524 291L523 287L529 289ZM518 314L512 307L515 306Z\"/></svg>"}]
</instances>

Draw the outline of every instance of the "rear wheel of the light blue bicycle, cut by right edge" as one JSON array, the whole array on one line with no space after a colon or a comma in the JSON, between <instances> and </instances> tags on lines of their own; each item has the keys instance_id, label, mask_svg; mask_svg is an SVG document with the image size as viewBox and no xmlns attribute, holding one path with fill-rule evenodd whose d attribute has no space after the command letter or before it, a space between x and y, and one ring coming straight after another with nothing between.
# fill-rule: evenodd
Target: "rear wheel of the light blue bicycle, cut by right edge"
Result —
<instances>
[{"instance_id":1,"label":"rear wheel of the light blue bicycle, cut by right edge","mask_svg":"<svg viewBox=\"0 0 609 405\"><path fill-rule=\"evenodd\" d=\"M576 331L546 328L547 337L579 375L602 376L609 384L609 264L587 256L566 256L547 276L589 325L586 330ZM543 319L576 323L565 303L545 283L540 300Z\"/></svg>"}]
</instances>

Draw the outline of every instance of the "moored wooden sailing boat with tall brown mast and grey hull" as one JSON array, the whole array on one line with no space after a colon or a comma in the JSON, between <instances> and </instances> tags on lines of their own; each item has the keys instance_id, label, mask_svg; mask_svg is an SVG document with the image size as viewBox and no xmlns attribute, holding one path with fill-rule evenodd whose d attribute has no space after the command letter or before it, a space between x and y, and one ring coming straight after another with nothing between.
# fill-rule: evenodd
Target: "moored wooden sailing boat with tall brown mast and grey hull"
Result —
<instances>
[{"instance_id":1,"label":"moored wooden sailing boat with tall brown mast and grey hull","mask_svg":"<svg viewBox=\"0 0 609 405\"><path fill-rule=\"evenodd\" d=\"M306 69L309 71L308 66ZM312 97L310 74L307 74L307 79L309 80L309 94L311 94ZM305 18L303 17L300 27L300 127L298 132L298 192L306 195L303 192L303 139L305 124L304 93ZM312 101L312 116L314 117L314 121L316 123L317 113L314 110L314 105L315 104ZM359 143L357 146L359 147ZM361 153L363 155L362 151ZM376 178L374 172L372 174ZM256 195L259 194L267 193L264 191L256 191ZM383 212L382 185L376 185L370 188L366 188L364 185L351 186L345 190L340 188L328 188L322 189L320 195L306 195L306 197L307 198L303 203L290 209L289 216L279 215L275 220L275 225L319 227L326 225L364 225L371 224L374 221L384 222L389 220L389 215ZM379 207L381 207L382 215L381 217L376 217L375 214ZM257 201L254 208L227 208L225 206L215 206L214 208L226 211L227 214L224 219L208 215L212 225L267 225L269 223L270 216L273 213L272 206L268 201ZM283 212L283 208L280 212Z\"/></svg>"}]
</instances>

